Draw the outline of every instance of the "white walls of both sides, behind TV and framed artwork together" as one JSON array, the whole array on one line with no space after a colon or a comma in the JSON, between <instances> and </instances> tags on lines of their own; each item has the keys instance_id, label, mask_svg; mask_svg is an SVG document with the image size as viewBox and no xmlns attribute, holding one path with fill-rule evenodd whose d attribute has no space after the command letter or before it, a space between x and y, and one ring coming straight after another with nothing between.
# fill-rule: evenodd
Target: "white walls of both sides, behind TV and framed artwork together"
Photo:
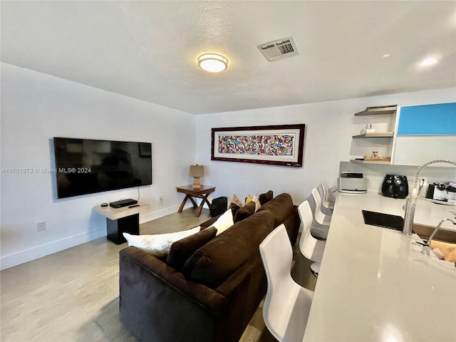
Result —
<instances>
[{"instance_id":1,"label":"white walls of both sides, behind TV and framed artwork together","mask_svg":"<svg viewBox=\"0 0 456 342\"><path fill-rule=\"evenodd\" d=\"M151 204L145 222L175 212L190 184L188 166L205 165L202 183L212 197L243 198L269 189L289 192L299 204L321 180L336 185L339 162L348 160L353 114L369 105L414 105L455 100L455 88L357 98L308 105L191 115L109 93L43 73L1 63L1 165L51 168L54 136L152 142L153 185L140 188ZM305 123L304 167L210 160L211 128ZM56 199L53 175L1 173L1 260L5 269L76 244L103 237L105 219L93 206L131 197L138 189ZM36 224L46 222L46 231Z\"/></svg>"}]
</instances>

